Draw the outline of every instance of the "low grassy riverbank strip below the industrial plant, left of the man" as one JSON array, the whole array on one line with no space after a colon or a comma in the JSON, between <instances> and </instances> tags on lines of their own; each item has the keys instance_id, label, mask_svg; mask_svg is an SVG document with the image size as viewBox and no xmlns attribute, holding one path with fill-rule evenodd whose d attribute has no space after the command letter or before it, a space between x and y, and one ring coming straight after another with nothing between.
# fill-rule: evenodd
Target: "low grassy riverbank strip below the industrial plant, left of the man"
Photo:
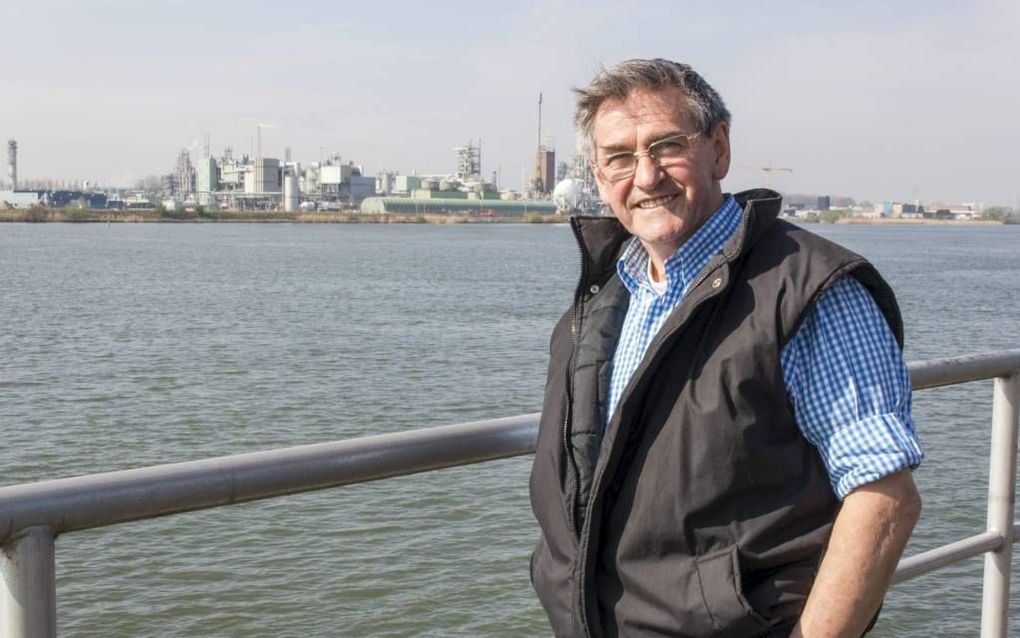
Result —
<instances>
[{"instance_id":1,"label":"low grassy riverbank strip below the industrial plant, left of the man","mask_svg":"<svg viewBox=\"0 0 1020 638\"><path fill-rule=\"evenodd\" d=\"M0 210L0 223L73 224L557 224L566 217L556 214L479 216L471 214L386 212L285 212L283 210L217 210L171 212L157 210L99 210L79 208L28 208Z\"/></svg>"}]
</instances>

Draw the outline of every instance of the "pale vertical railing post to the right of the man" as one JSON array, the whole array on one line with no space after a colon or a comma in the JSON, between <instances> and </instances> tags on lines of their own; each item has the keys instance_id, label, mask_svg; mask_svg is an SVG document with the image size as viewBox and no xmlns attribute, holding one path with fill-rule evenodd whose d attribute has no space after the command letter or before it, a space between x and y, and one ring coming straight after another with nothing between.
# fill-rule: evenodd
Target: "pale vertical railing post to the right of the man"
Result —
<instances>
[{"instance_id":1,"label":"pale vertical railing post to the right of the man","mask_svg":"<svg viewBox=\"0 0 1020 638\"><path fill-rule=\"evenodd\" d=\"M997 551L984 554L982 638L1006 638L1009 625L1018 415L1020 374L1014 373L1010 377L996 379L991 403L987 529L1002 535L1003 545Z\"/></svg>"}]
</instances>

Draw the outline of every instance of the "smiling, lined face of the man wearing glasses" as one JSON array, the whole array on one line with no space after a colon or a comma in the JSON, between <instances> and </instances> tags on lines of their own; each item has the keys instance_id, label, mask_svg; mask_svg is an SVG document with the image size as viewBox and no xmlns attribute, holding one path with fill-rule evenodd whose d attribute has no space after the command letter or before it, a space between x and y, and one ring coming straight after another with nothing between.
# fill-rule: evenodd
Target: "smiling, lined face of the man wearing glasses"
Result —
<instances>
[{"instance_id":1,"label":"smiling, lined face of the man wearing glasses","mask_svg":"<svg viewBox=\"0 0 1020 638\"><path fill-rule=\"evenodd\" d=\"M632 91L607 100L595 115L596 182L616 218L663 259L676 251L722 205L719 185L729 170L729 129L725 122L690 140L691 150L673 165L638 160L634 175L610 182L598 168L612 153L641 152L649 144L697 131L682 114L683 92L675 87Z\"/></svg>"}]
</instances>

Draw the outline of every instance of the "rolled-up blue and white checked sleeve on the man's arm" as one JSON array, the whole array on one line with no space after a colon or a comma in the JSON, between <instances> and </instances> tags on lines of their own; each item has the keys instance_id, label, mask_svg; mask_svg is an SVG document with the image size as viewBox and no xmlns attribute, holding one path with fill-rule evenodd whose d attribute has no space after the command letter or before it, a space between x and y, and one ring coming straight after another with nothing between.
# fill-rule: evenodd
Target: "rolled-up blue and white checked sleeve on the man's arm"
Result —
<instances>
[{"instance_id":1,"label":"rolled-up blue and white checked sleeve on the man's arm","mask_svg":"<svg viewBox=\"0 0 1020 638\"><path fill-rule=\"evenodd\" d=\"M797 424L840 500L921 462L903 352L856 279L844 277L822 294L780 363Z\"/></svg>"}]
</instances>

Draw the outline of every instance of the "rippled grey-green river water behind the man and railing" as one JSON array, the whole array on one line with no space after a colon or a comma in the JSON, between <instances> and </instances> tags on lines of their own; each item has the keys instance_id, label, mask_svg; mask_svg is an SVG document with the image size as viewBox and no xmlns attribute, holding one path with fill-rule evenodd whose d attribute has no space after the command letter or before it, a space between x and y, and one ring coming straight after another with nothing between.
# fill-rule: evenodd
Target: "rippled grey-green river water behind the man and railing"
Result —
<instances>
[{"instance_id":1,"label":"rippled grey-green river water behind the man and railing","mask_svg":"<svg viewBox=\"0 0 1020 638\"><path fill-rule=\"evenodd\" d=\"M889 280L909 359L1020 347L1020 227L813 229ZM537 411L576 268L563 225L0 225L0 485ZM915 395L908 553L981 531L990 396ZM69 534L61 635L548 635L529 463ZM976 634L980 565L872 635Z\"/></svg>"}]
</instances>

